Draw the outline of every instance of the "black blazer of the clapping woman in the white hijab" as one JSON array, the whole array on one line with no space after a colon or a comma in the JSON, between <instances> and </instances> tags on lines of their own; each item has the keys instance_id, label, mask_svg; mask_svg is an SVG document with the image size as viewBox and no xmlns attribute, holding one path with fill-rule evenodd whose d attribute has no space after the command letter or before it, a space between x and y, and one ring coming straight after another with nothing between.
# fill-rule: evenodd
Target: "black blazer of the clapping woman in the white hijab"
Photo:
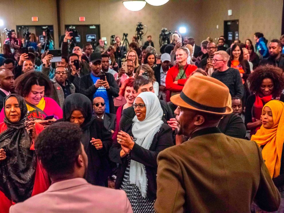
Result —
<instances>
[{"instance_id":1,"label":"black blazer of the clapping woman in the white hijab","mask_svg":"<svg viewBox=\"0 0 284 213\"><path fill-rule=\"evenodd\" d=\"M133 136L132 123L126 127L126 132ZM160 151L173 145L172 129L167 124L163 124L153 138L152 144L149 150L137 145L133 146L133 149L129 153L129 157L139 163L145 165L146 176L148 180L147 185L147 197L149 200L153 201L156 199L157 193L157 156ZM123 180L125 170L127 168L127 157L120 157L121 145L115 140L111 149L109 150L109 158L115 163L119 163L117 171L117 179L115 181L115 188L119 189Z\"/></svg>"}]
</instances>

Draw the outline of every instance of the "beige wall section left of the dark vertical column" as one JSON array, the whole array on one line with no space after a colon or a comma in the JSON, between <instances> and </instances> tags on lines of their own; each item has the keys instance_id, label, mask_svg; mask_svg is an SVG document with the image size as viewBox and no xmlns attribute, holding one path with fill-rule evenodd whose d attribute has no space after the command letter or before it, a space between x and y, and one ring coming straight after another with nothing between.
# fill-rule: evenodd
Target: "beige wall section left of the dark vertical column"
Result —
<instances>
[{"instance_id":1,"label":"beige wall section left of the dark vertical column","mask_svg":"<svg viewBox=\"0 0 284 213\"><path fill-rule=\"evenodd\" d=\"M32 22L31 17L38 16L38 22ZM58 25L56 0L0 0L0 19L4 26L0 27L1 33L5 27L16 29L16 25L53 25L54 40L58 45ZM4 35L2 35L2 43Z\"/></svg>"}]
</instances>

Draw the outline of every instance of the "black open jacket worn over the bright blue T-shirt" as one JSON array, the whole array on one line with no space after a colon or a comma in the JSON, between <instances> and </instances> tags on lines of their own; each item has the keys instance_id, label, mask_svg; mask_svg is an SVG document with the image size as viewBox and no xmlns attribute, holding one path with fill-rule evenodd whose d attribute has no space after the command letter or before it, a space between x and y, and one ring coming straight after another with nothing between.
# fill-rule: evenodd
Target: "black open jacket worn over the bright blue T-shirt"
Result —
<instances>
[{"instance_id":1,"label":"black open jacket worn over the bright blue T-shirt","mask_svg":"<svg viewBox=\"0 0 284 213\"><path fill-rule=\"evenodd\" d=\"M109 96L109 112L115 114L115 105L113 103L113 97L118 97L119 86L115 81L113 74L105 72L107 77L107 82L109 82L110 89L107 90ZM79 92L87 96L91 102L93 102L93 94L96 92L97 88L94 85L94 82L90 76L91 74L82 76L79 83Z\"/></svg>"}]
</instances>

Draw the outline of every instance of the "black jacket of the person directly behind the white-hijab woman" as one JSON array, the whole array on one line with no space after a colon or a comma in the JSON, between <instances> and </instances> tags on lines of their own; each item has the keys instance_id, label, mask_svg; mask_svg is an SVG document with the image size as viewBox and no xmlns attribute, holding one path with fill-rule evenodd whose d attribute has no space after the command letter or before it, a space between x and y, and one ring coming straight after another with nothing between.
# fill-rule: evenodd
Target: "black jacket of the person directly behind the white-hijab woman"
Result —
<instances>
[{"instance_id":1,"label":"black jacket of the person directly behind the white-hijab woman","mask_svg":"<svg viewBox=\"0 0 284 213\"><path fill-rule=\"evenodd\" d=\"M161 108L163 110L163 121L167 123L169 119L173 118L173 113L171 112L171 108L169 104L164 100L159 100L161 104ZM122 111L121 119L119 121L119 131L121 129L125 129L124 126L127 126L129 123L132 124L132 119L135 117L135 111L133 107L128 107Z\"/></svg>"}]
</instances>

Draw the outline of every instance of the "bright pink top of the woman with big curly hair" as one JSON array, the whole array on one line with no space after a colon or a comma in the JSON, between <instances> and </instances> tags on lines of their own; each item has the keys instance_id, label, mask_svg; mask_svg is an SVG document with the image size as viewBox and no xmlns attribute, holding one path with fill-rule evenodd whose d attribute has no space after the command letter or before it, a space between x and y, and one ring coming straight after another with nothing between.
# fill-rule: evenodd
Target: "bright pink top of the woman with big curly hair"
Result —
<instances>
[{"instance_id":1,"label":"bright pink top of the woman with big curly hair","mask_svg":"<svg viewBox=\"0 0 284 213\"><path fill-rule=\"evenodd\" d=\"M63 118L63 111L56 103L55 100L52 98L44 97L45 100L45 107L44 107L44 112L46 115L54 115L54 118L56 120ZM45 115L42 115L44 118L46 117ZM0 123L4 121L5 115L4 115L4 108L0 112Z\"/></svg>"}]
</instances>

